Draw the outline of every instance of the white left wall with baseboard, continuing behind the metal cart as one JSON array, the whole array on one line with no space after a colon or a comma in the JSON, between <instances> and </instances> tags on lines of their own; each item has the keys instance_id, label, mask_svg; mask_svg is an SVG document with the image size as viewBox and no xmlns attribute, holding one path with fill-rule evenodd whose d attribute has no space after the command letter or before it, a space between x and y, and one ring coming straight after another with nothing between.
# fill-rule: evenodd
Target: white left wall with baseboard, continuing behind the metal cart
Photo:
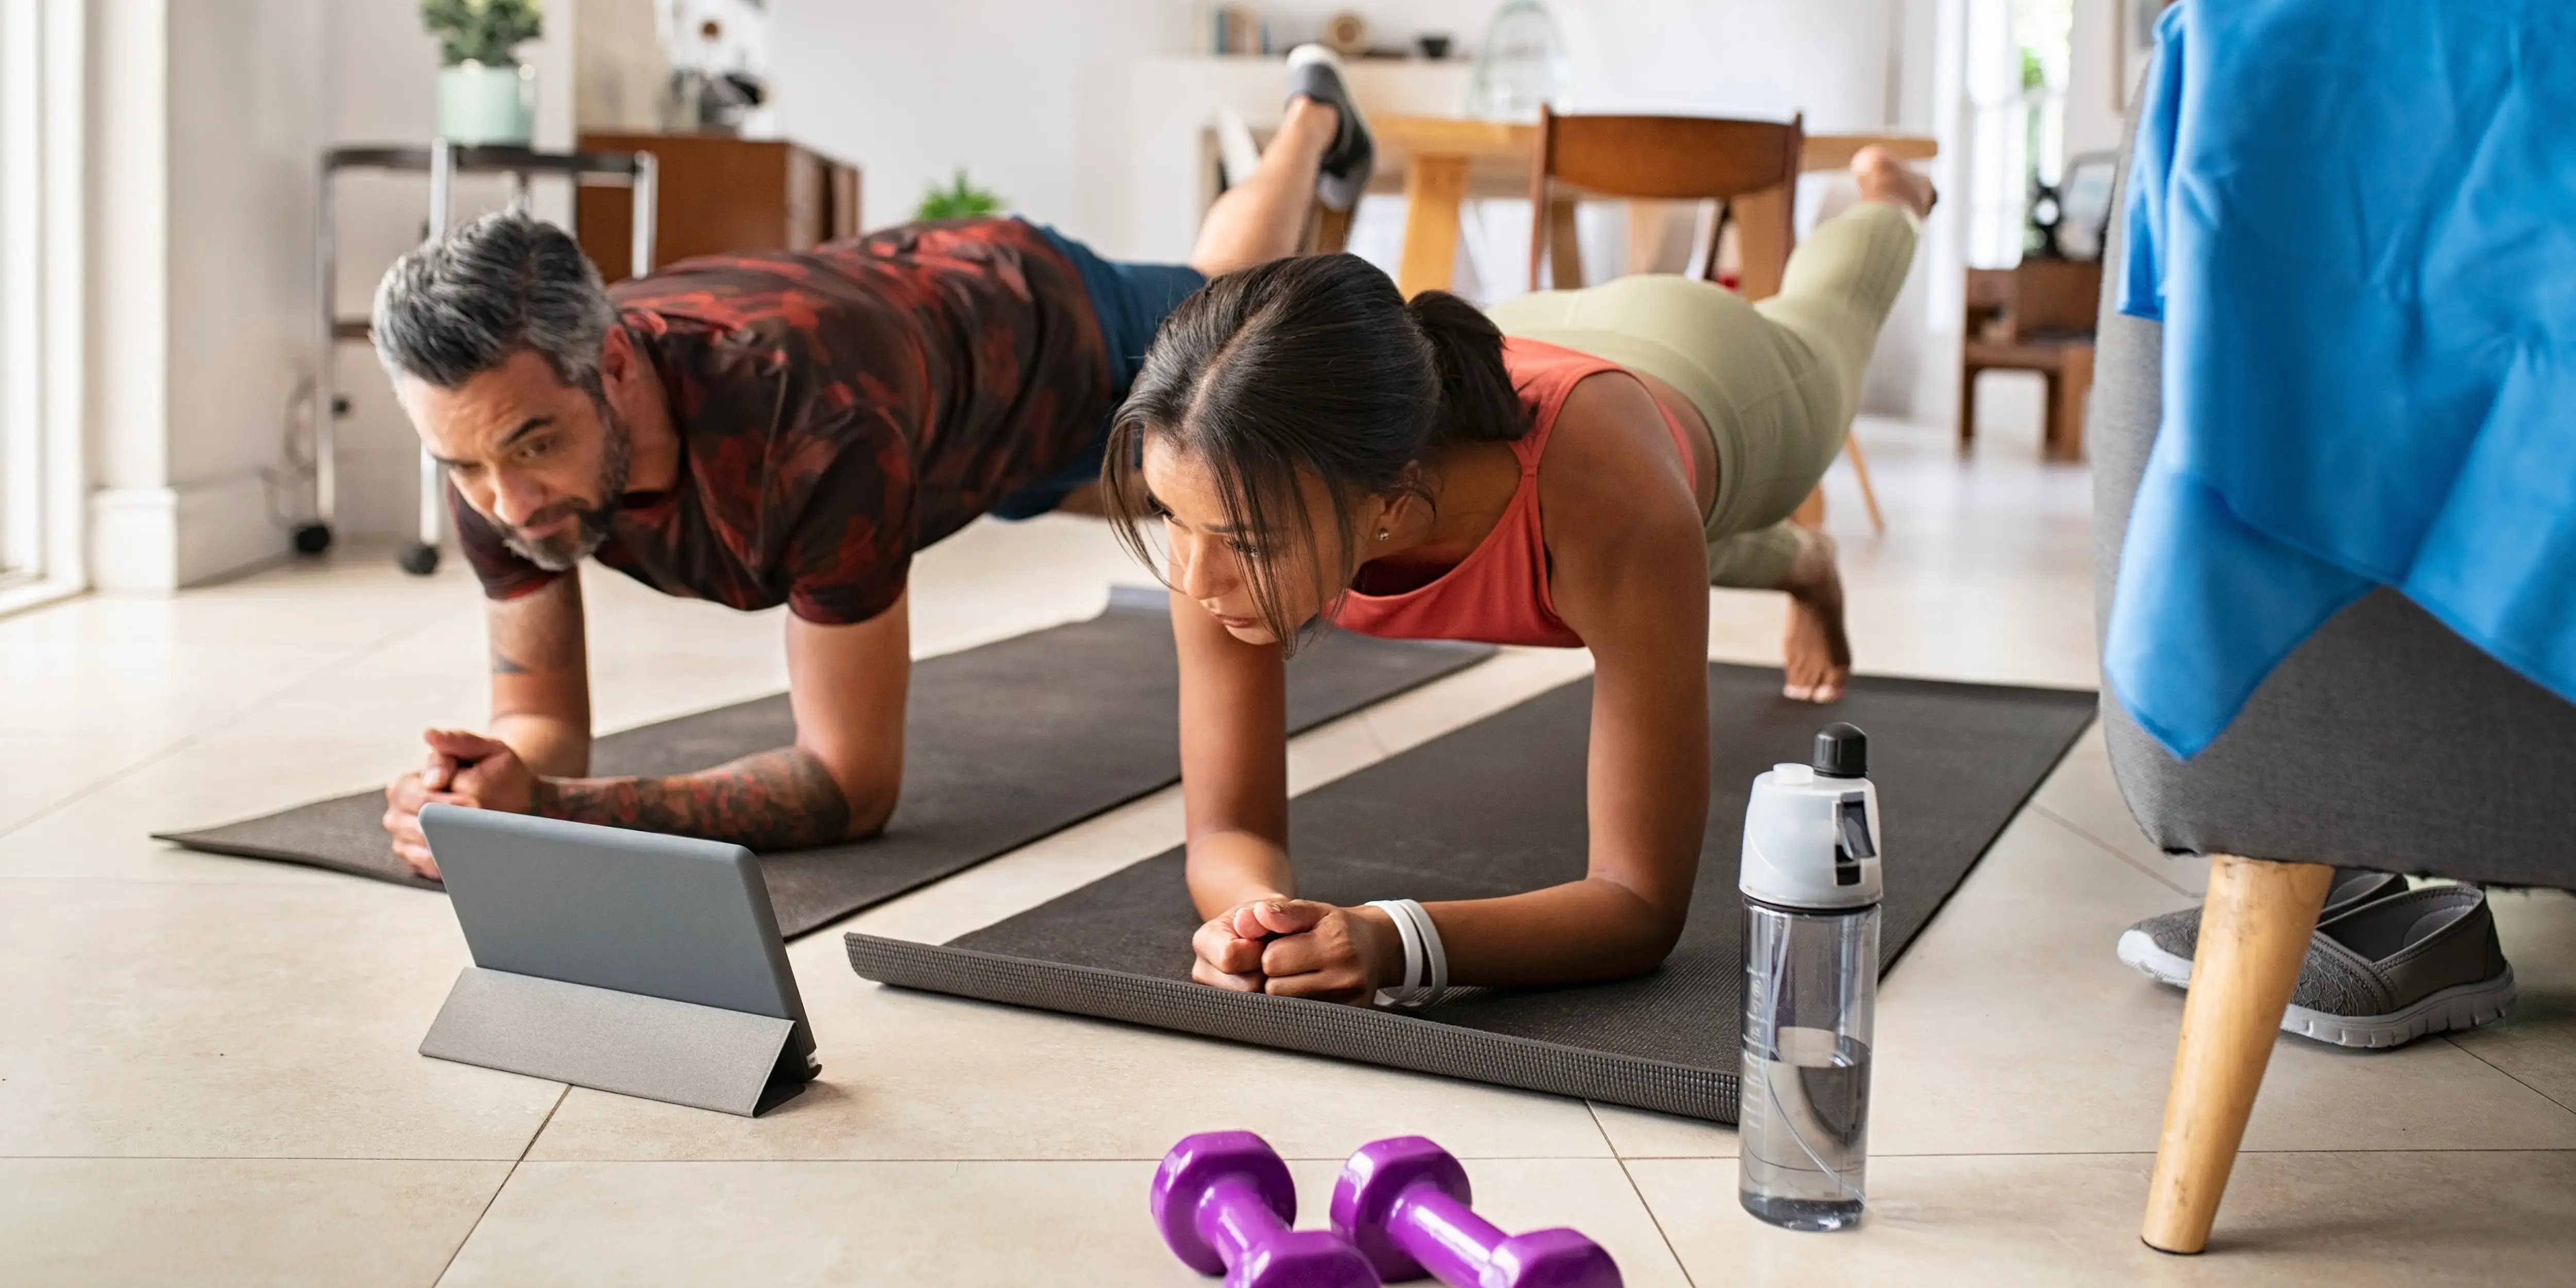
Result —
<instances>
[{"instance_id":1,"label":"white left wall with baseboard, continuing behind the metal cart","mask_svg":"<svg viewBox=\"0 0 2576 1288\"><path fill-rule=\"evenodd\" d=\"M538 142L556 144L572 121L562 8L531 46ZM309 515L289 435L317 368L319 149L428 139L438 54L412 0L98 0L90 36L90 577L167 590L283 556ZM371 183L337 222L355 314L425 204L420 180ZM497 201L482 185L461 209ZM337 374L358 404L340 531L407 531L410 428L363 345L337 350Z\"/></svg>"}]
</instances>

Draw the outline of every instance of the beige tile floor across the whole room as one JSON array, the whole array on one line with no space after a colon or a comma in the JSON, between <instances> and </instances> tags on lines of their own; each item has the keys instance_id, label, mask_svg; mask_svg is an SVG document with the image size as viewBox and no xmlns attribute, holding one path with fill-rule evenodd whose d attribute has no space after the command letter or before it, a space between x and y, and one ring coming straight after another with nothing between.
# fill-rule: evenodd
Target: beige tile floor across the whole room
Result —
<instances>
[{"instance_id":1,"label":"beige tile floor across the whole room","mask_svg":"<svg viewBox=\"0 0 2576 1288\"><path fill-rule=\"evenodd\" d=\"M1891 533L1837 471L1868 670L2092 685L2089 484L2030 435L1865 425ZM1092 613L1100 528L979 526L914 577L917 649ZM783 683L778 623L590 582L603 726ZM1780 605L1716 595L1713 654ZM2087 739L1888 976L1873 1213L1762 1229L1734 1133L855 979L791 945L824 1082L739 1121L420 1059L464 963L446 902L144 835L381 781L482 716L456 569L384 551L0 618L0 1283L1198 1283L1144 1185L1185 1131L1334 1159L1422 1131L1504 1226L1574 1224L1628 1283L2537 1283L2576 1265L2576 899L2499 896L2512 1023L2393 1054L2282 1041L2210 1257L2136 1242L2179 999L2110 940L2200 873ZM1515 652L1303 737L1298 788L1582 670ZM855 917L948 938L1154 853L1175 793Z\"/></svg>"}]
</instances>

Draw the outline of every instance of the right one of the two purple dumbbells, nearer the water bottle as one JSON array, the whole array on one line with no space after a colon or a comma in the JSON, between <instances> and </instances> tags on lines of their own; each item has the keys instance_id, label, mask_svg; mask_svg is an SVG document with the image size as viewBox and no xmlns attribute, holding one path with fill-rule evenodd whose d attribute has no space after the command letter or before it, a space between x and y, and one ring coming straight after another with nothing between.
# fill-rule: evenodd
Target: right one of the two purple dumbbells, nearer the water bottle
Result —
<instances>
[{"instance_id":1,"label":"right one of the two purple dumbbells, nearer the water bottle","mask_svg":"<svg viewBox=\"0 0 2576 1288\"><path fill-rule=\"evenodd\" d=\"M1466 1167L1422 1136L1373 1141L1332 1188L1332 1229L1386 1280L1450 1288L1620 1288L1618 1262L1571 1229L1504 1234L1476 1216Z\"/></svg>"}]
</instances>

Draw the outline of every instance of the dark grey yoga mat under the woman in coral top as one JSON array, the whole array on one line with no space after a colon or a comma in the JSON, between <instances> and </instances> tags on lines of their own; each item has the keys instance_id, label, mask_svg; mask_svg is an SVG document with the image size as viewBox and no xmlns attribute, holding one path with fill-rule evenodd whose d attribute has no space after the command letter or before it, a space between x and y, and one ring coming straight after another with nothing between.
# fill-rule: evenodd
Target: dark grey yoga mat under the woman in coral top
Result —
<instances>
[{"instance_id":1,"label":"dark grey yoga mat under the woman in coral top","mask_svg":"<svg viewBox=\"0 0 2576 1288\"><path fill-rule=\"evenodd\" d=\"M1296 665L1291 665L1291 672ZM1690 927L1659 971L1610 984L1479 989L1399 1015L1190 984L1198 914L1180 850L948 945L848 935L868 979L1288 1051L1736 1121L1744 793L1806 760L1834 719L1870 734L1886 842L1880 969L1896 961L2094 716L2094 696L1857 677L1832 708L1780 672L1708 667L1708 837ZM1584 871L1579 680L1291 804L1309 899L1481 899Z\"/></svg>"}]
</instances>

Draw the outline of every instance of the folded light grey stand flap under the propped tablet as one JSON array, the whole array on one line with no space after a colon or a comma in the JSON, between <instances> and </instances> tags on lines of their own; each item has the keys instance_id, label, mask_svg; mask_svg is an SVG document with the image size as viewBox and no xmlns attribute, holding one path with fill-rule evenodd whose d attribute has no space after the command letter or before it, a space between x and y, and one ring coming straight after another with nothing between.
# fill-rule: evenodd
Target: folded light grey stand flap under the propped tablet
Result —
<instances>
[{"instance_id":1,"label":"folded light grey stand flap under the propped tablet","mask_svg":"<svg viewBox=\"0 0 2576 1288\"><path fill-rule=\"evenodd\" d=\"M806 1087L796 1020L466 966L422 1056L744 1118Z\"/></svg>"}]
</instances>

